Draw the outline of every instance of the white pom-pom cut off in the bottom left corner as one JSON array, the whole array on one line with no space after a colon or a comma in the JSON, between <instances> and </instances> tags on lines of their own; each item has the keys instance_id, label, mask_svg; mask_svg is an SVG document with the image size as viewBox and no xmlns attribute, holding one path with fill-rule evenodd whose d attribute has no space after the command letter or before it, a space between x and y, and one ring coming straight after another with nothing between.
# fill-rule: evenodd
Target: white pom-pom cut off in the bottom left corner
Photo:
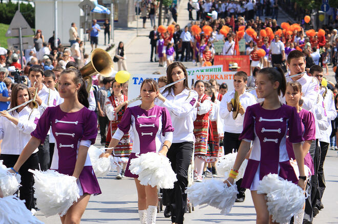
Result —
<instances>
[{"instance_id":1,"label":"white pom-pom cut off in the bottom left corner","mask_svg":"<svg viewBox=\"0 0 338 224\"><path fill-rule=\"evenodd\" d=\"M43 224L29 211L23 200L15 196L0 198L0 222L11 224Z\"/></svg>"}]
</instances>

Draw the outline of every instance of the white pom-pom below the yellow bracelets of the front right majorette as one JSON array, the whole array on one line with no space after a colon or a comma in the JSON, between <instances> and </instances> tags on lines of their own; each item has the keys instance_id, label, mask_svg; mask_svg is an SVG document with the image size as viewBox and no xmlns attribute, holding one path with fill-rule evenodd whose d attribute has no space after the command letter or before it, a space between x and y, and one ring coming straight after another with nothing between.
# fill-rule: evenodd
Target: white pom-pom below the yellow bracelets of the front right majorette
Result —
<instances>
[{"instance_id":1,"label":"white pom-pom below the yellow bracelets of the front right majorette","mask_svg":"<svg viewBox=\"0 0 338 224\"><path fill-rule=\"evenodd\" d=\"M236 195L236 184L228 187L222 181L209 179L188 187L185 192L193 205L209 205L221 210L221 214L227 215L233 208Z\"/></svg>"}]
</instances>

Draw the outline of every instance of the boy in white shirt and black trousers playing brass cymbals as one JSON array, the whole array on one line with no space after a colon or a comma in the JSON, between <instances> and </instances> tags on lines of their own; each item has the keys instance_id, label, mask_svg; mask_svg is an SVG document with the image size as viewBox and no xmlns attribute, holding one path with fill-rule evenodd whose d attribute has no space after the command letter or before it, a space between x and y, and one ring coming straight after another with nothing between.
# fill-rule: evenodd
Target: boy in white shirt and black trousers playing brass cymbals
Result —
<instances>
[{"instance_id":1,"label":"boy in white shirt and black trousers playing brass cymbals","mask_svg":"<svg viewBox=\"0 0 338 224\"><path fill-rule=\"evenodd\" d=\"M236 72L234 75L234 90L227 92L220 104L220 116L224 119L224 138L223 138L223 147L224 154L229 154L232 152L237 152L241 144L239 139L240 134L243 131L243 121L246 108L248 106L257 104L257 99L254 95L245 91L245 85L247 83L247 75L243 71ZM234 119L233 118L233 105L231 104L231 99L235 97L235 92L239 94L240 109L239 114ZM241 188L242 179L237 181L238 186L238 195L236 198L237 202L243 202L245 199L245 188Z\"/></svg>"}]
</instances>

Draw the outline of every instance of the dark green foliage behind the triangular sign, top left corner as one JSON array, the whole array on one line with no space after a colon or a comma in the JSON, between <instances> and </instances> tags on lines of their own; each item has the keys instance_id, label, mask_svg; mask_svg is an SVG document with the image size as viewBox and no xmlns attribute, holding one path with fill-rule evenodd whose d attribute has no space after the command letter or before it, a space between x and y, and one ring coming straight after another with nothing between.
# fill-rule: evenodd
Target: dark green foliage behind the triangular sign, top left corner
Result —
<instances>
[{"instance_id":1,"label":"dark green foliage behind the triangular sign, top left corner","mask_svg":"<svg viewBox=\"0 0 338 224\"><path fill-rule=\"evenodd\" d=\"M0 21L4 24L10 24L17 11L17 4L3 3L0 4ZM20 4L20 12L25 17L31 28L35 27L35 8L31 4Z\"/></svg>"}]
</instances>

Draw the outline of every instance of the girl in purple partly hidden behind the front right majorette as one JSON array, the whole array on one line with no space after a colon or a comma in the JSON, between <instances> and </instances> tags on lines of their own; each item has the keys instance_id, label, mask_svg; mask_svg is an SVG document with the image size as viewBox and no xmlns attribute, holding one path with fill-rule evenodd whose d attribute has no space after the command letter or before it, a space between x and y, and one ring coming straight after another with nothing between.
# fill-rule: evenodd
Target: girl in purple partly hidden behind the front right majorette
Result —
<instances>
[{"instance_id":1,"label":"girl in purple partly hidden behind the front right majorette","mask_svg":"<svg viewBox=\"0 0 338 224\"><path fill-rule=\"evenodd\" d=\"M308 167L310 173L305 171L306 180L308 181L310 176L314 174L313 161L309 153L309 149L312 141L315 140L315 124L314 116L311 112L303 109L302 104L302 85L298 82L288 82L286 85L285 100L286 104L297 109L298 115L302 121L302 130L304 142L302 142L304 165ZM301 102L301 103L300 103ZM289 135L289 131L287 133ZM292 149L292 143L289 141L288 136L286 137L286 149L290 159L295 159L294 152ZM307 185L307 190L311 190ZM301 212L294 216L294 224L302 224L304 217L304 208Z\"/></svg>"}]
</instances>

